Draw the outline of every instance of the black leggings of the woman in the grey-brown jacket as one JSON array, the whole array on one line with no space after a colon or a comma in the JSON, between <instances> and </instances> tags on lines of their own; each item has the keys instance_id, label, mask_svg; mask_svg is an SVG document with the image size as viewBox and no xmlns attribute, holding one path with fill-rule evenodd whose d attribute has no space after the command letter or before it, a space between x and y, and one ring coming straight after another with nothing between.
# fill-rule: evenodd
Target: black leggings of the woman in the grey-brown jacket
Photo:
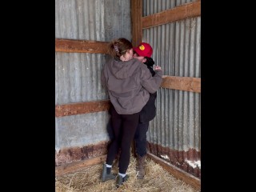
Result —
<instances>
[{"instance_id":1,"label":"black leggings of the woman in the grey-brown jacket","mask_svg":"<svg viewBox=\"0 0 256 192\"><path fill-rule=\"evenodd\" d=\"M118 114L111 105L110 114L114 130L114 140L110 143L106 164L112 165L114 158L118 154L118 149L121 148L119 173L126 174L130 162L130 146L138 126L139 113Z\"/></svg>"}]
</instances>

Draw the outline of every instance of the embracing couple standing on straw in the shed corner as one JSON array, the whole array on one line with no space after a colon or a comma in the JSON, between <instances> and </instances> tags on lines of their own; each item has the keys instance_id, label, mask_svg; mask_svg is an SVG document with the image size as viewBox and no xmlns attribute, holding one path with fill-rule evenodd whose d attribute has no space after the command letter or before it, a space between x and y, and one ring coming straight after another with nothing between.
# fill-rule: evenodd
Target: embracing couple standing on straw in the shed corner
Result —
<instances>
[{"instance_id":1,"label":"embracing couple standing on straw in the shed corner","mask_svg":"<svg viewBox=\"0 0 256 192\"><path fill-rule=\"evenodd\" d=\"M130 146L135 140L137 154L137 178L145 175L146 131L155 117L155 98L162 83L162 70L151 58L153 49L146 42L133 47L126 38L110 42L112 57L102 70L102 86L110 97L110 125L113 137L108 148L106 163L103 164L102 182L117 178L116 186L126 182L130 163ZM111 173L118 151L119 172Z\"/></svg>"}]
</instances>

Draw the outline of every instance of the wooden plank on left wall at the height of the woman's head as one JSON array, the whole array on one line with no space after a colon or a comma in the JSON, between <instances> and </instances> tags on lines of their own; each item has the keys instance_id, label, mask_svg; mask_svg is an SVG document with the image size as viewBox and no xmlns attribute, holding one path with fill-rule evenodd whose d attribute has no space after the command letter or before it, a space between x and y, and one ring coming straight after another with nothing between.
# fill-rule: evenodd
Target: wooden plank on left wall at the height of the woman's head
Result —
<instances>
[{"instance_id":1,"label":"wooden plank on left wall at the height of the woman's head","mask_svg":"<svg viewBox=\"0 0 256 192\"><path fill-rule=\"evenodd\" d=\"M55 51L68 53L107 54L109 42L55 38Z\"/></svg>"}]
</instances>

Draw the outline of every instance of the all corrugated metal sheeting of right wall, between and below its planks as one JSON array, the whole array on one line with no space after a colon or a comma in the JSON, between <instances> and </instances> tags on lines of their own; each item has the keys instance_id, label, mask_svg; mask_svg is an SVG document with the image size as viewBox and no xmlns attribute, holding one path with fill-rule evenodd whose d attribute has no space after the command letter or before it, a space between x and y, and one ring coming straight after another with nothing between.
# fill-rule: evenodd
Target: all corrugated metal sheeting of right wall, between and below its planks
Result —
<instances>
[{"instance_id":1,"label":"all corrugated metal sheeting of right wall, between and below its planks","mask_svg":"<svg viewBox=\"0 0 256 192\"><path fill-rule=\"evenodd\" d=\"M144 0L143 16L186 2L192 1ZM201 78L201 17L145 29L142 41L153 46L152 58L165 75ZM200 178L200 94L160 88L156 104L157 116L147 132L148 150Z\"/></svg>"}]
</instances>

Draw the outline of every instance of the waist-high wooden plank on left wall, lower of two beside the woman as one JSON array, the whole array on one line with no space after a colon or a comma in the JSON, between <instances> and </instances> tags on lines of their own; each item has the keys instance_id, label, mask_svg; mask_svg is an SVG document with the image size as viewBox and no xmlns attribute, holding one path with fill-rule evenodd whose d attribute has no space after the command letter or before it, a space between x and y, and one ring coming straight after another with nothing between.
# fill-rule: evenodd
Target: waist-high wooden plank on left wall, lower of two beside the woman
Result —
<instances>
[{"instance_id":1,"label":"waist-high wooden plank on left wall, lower of two beside the woman","mask_svg":"<svg viewBox=\"0 0 256 192\"><path fill-rule=\"evenodd\" d=\"M76 114L89 114L109 110L110 100L98 102L78 102L66 105L55 106L55 117L62 117Z\"/></svg>"}]
</instances>

